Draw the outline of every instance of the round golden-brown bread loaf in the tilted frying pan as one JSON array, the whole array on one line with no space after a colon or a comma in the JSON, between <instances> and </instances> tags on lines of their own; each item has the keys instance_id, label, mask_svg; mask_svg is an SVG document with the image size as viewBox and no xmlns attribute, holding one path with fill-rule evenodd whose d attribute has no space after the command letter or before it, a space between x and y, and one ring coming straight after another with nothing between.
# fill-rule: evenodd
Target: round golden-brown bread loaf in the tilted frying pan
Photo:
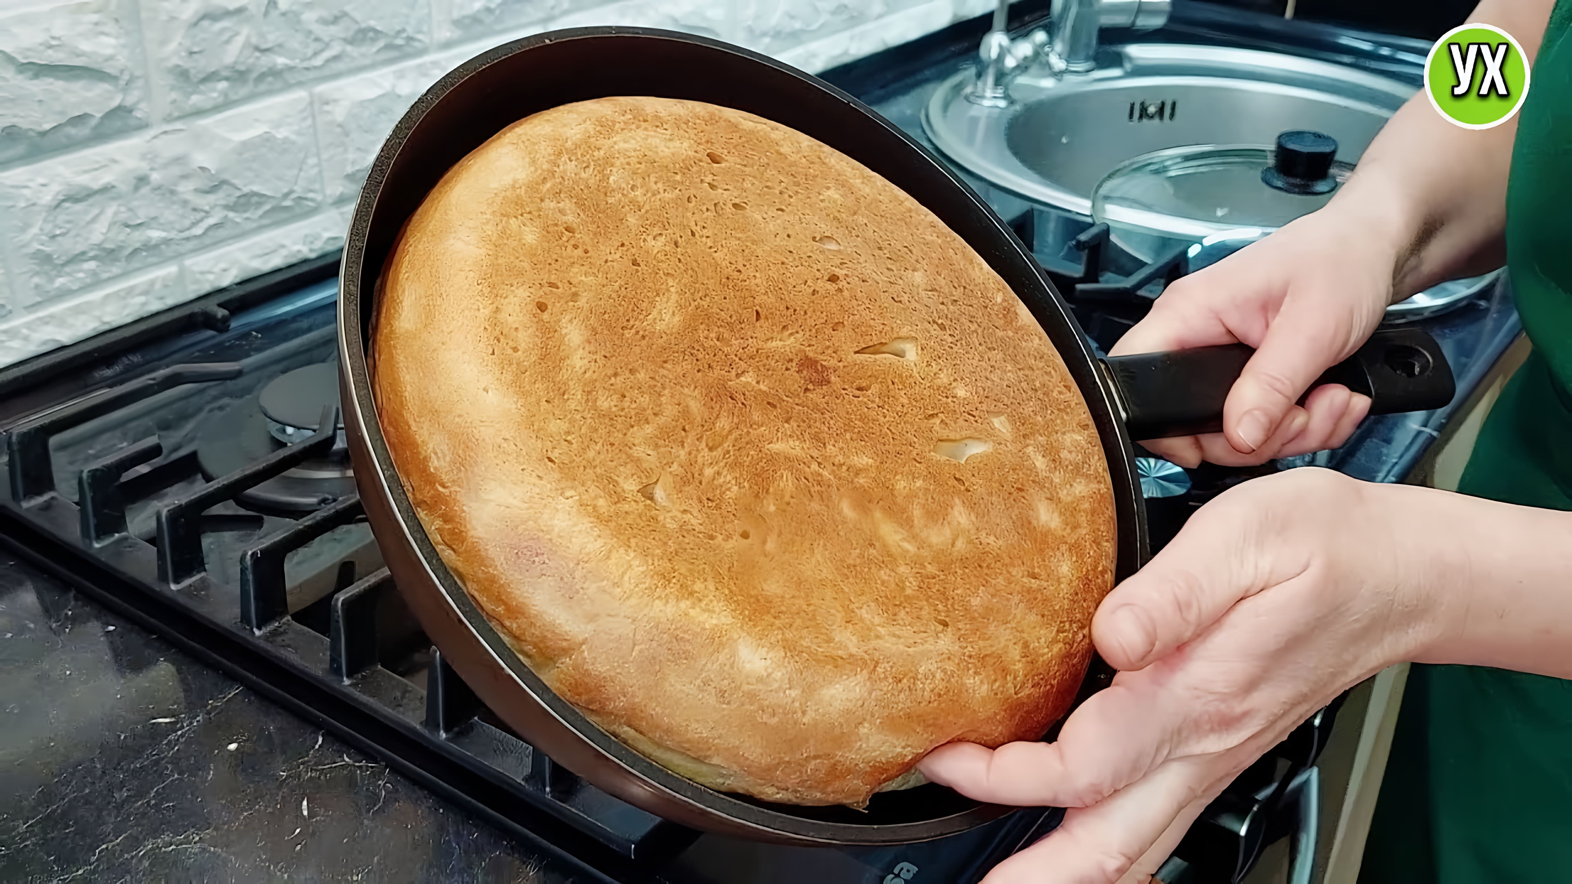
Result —
<instances>
[{"instance_id":1,"label":"round golden-brown bread loaf in the tilted frying pan","mask_svg":"<svg viewBox=\"0 0 1572 884\"><path fill-rule=\"evenodd\" d=\"M1107 462L1009 286L838 151L692 101L522 120L384 267L377 417L564 700L715 790L861 807L1064 714Z\"/></svg>"}]
</instances>

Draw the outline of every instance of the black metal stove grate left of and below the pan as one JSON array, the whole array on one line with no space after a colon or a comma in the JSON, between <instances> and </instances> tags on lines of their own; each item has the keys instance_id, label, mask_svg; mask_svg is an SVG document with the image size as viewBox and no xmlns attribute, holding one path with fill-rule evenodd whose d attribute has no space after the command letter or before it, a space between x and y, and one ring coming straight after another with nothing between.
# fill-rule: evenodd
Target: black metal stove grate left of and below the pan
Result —
<instances>
[{"instance_id":1,"label":"black metal stove grate left of and below the pan","mask_svg":"<svg viewBox=\"0 0 1572 884\"><path fill-rule=\"evenodd\" d=\"M190 321L165 326L184 332ZM55 355L35 365L33 384L17 373L6 381L25 390L82 362ZM61 492L50 445L60 434L157 393L241 374L234 362L173 365L14 420L5 434L0 543L492 823L604 878L652 879L698 834L578 782L508 731L420 634L387 569L355 580L354 562L343 562L327 595L291 598L286 558L363 524L358 497L324 502L297 521L266 519L234 500L325 455L335 409L307 439L195 488L195 450L167 455L152 436L82 467L75 500ZM135 536L127 510L154 497L162 497L156 530ZM233 555L234 538L215 535L237 532L255 535L242 538L239 579L209 573L214 555Z\"/></svg>"}]
</instances>

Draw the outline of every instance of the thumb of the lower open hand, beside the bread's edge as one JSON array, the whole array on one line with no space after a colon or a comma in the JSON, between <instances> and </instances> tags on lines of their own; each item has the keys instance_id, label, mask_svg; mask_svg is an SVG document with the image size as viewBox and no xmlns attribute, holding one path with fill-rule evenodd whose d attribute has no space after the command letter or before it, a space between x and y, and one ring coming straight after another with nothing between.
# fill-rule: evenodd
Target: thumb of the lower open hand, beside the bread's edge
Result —
<instances>
[{"instance_id":1,"label":"thumb of the lower open hand, beside the bread's edge","mask_svg":"<svg viewBox=\"0 0 1572 884\"><path fill-rule=\"evenodd\" d=\"M1179 536L1097 607L1091 639L1115 669L1146 669L1259 590L1242 571L1242 557L1226 549L1239 532L1206 516L1206 510L1196 513Z\"/></svg>"}]
</instances>

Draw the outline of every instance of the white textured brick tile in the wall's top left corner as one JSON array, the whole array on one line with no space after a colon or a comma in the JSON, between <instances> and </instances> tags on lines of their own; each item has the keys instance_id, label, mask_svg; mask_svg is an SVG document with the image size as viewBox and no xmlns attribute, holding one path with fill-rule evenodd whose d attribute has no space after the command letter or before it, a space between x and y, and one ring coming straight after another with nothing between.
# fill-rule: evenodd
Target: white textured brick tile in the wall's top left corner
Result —
<instances>
[{"instance_id":1,"label":"white textured brick tile in the wall's top left corner","mask_svg":"<svg viewBox=\"0 0 1572 884\"><path fill-rule=\"evenodd\" d=\"M0 11L0 164L148 124L115 0Z\"/></svg>"}]
</instances>

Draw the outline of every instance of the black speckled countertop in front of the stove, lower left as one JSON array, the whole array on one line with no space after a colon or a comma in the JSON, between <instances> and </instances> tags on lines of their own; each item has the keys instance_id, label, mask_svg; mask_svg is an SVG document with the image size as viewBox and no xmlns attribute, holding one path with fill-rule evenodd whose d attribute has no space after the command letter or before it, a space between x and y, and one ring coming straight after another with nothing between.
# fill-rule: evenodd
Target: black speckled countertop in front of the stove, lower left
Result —
<instances>
[{"instance_id":1,"label":"black speckled countertop in front of the stove, lower left","mask_svg":"<svg viewBox=\"0 0 1572 884\"><path fill-rule=\"evenodd\" d=\"M0 881L588 881L0 554Z\"/></svg>"}]
</instances>

